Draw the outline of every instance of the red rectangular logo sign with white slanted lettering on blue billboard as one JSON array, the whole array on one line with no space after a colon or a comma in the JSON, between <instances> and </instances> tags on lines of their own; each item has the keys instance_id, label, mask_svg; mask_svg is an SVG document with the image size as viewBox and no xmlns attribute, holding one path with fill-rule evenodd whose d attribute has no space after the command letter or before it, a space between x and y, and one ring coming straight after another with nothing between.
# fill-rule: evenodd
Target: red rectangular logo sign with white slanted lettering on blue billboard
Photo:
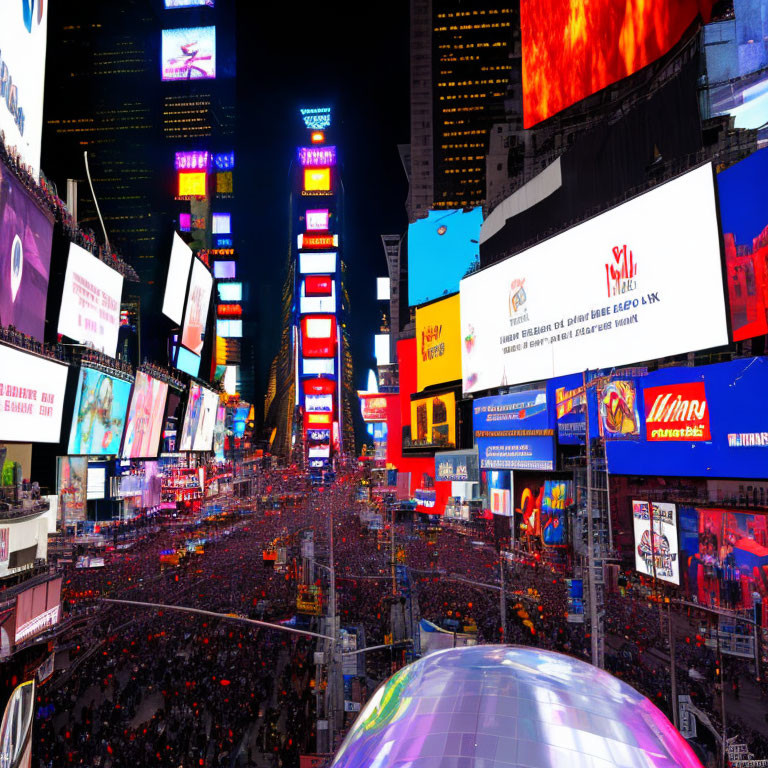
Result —
<instances>
[{"instance_id":1,"label":"red rectangular logo sign with white slanted lettering on blue billboard","mask_svg":"<svg viewBox=\"0 0 768 768\"><path fill-rule=\"evenodd\" d=\"M712 439L703 381L647 387L644 396L647 440Z\"/></svg>"}]
</instances>

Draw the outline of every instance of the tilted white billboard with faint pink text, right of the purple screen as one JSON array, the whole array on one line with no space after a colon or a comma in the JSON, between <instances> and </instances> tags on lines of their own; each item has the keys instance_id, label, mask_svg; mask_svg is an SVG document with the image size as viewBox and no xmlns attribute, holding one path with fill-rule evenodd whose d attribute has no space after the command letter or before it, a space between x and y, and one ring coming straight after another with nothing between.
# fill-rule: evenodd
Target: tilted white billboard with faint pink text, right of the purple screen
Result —
<instances>
[{"instance_id":1,"label":"tilted white billboard with faint pink text, right of the purple screen","mask_svg":"<svg viewBox=\"0 0 768 768\"><path fill-rule=\"evenodd\" d=\"M58 332L114 357L122 295L123 276L70 243Z\"/></svg>"}]
</instances>

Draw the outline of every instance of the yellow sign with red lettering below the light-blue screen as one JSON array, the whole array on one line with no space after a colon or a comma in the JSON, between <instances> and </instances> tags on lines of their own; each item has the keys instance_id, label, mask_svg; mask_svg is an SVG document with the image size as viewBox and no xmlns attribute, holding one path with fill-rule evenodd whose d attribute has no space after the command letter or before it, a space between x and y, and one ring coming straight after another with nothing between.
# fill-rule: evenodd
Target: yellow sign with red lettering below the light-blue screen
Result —
<instances>
[{"instance_id":1,"label":"yellow sign with red lettering below the light-blue screen","mask_svg":"<svg viewBox=\"0 0 768 768\"><path fill-rule=\"evenodd\" d=\"M416 308L416 386L461 379L459 295Z\"/></svg>"}]
</instances>

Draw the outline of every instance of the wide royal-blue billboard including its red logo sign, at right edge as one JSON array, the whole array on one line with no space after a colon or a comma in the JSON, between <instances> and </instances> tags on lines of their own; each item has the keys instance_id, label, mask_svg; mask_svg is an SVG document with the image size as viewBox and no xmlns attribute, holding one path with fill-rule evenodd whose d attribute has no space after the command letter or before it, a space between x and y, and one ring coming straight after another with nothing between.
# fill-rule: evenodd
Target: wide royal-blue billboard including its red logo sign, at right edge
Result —
<instances>
[{"instance_id":1,"label":"wide royal-blue billboard including its red logo sign, at right edge","mask_svg":"<svg viewBox=\"0 0 768 768\"><path fill-rule=\"evenodd\" d=\"M637 391L639 435L606 441L611 473L766 477L768 358L664 368Z\"/></svg>"}]
</instances>

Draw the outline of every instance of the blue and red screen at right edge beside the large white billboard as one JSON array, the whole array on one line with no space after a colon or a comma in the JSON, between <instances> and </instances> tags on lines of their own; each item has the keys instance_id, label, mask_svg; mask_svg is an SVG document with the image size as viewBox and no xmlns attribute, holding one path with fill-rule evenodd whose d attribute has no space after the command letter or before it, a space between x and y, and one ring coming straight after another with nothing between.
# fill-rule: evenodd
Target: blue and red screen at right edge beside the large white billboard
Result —
<instances>
[{"instance_id":1,"label":"blue and red screen at right edge beside the large white billboard","mask_svg":"<svg viewBox=\"0 0 768 768\"><path fill-rule=\"evenodd\" d=\"M768 149L717 175L733 340L768 333Z\"/></svg>"}]
</instances>

